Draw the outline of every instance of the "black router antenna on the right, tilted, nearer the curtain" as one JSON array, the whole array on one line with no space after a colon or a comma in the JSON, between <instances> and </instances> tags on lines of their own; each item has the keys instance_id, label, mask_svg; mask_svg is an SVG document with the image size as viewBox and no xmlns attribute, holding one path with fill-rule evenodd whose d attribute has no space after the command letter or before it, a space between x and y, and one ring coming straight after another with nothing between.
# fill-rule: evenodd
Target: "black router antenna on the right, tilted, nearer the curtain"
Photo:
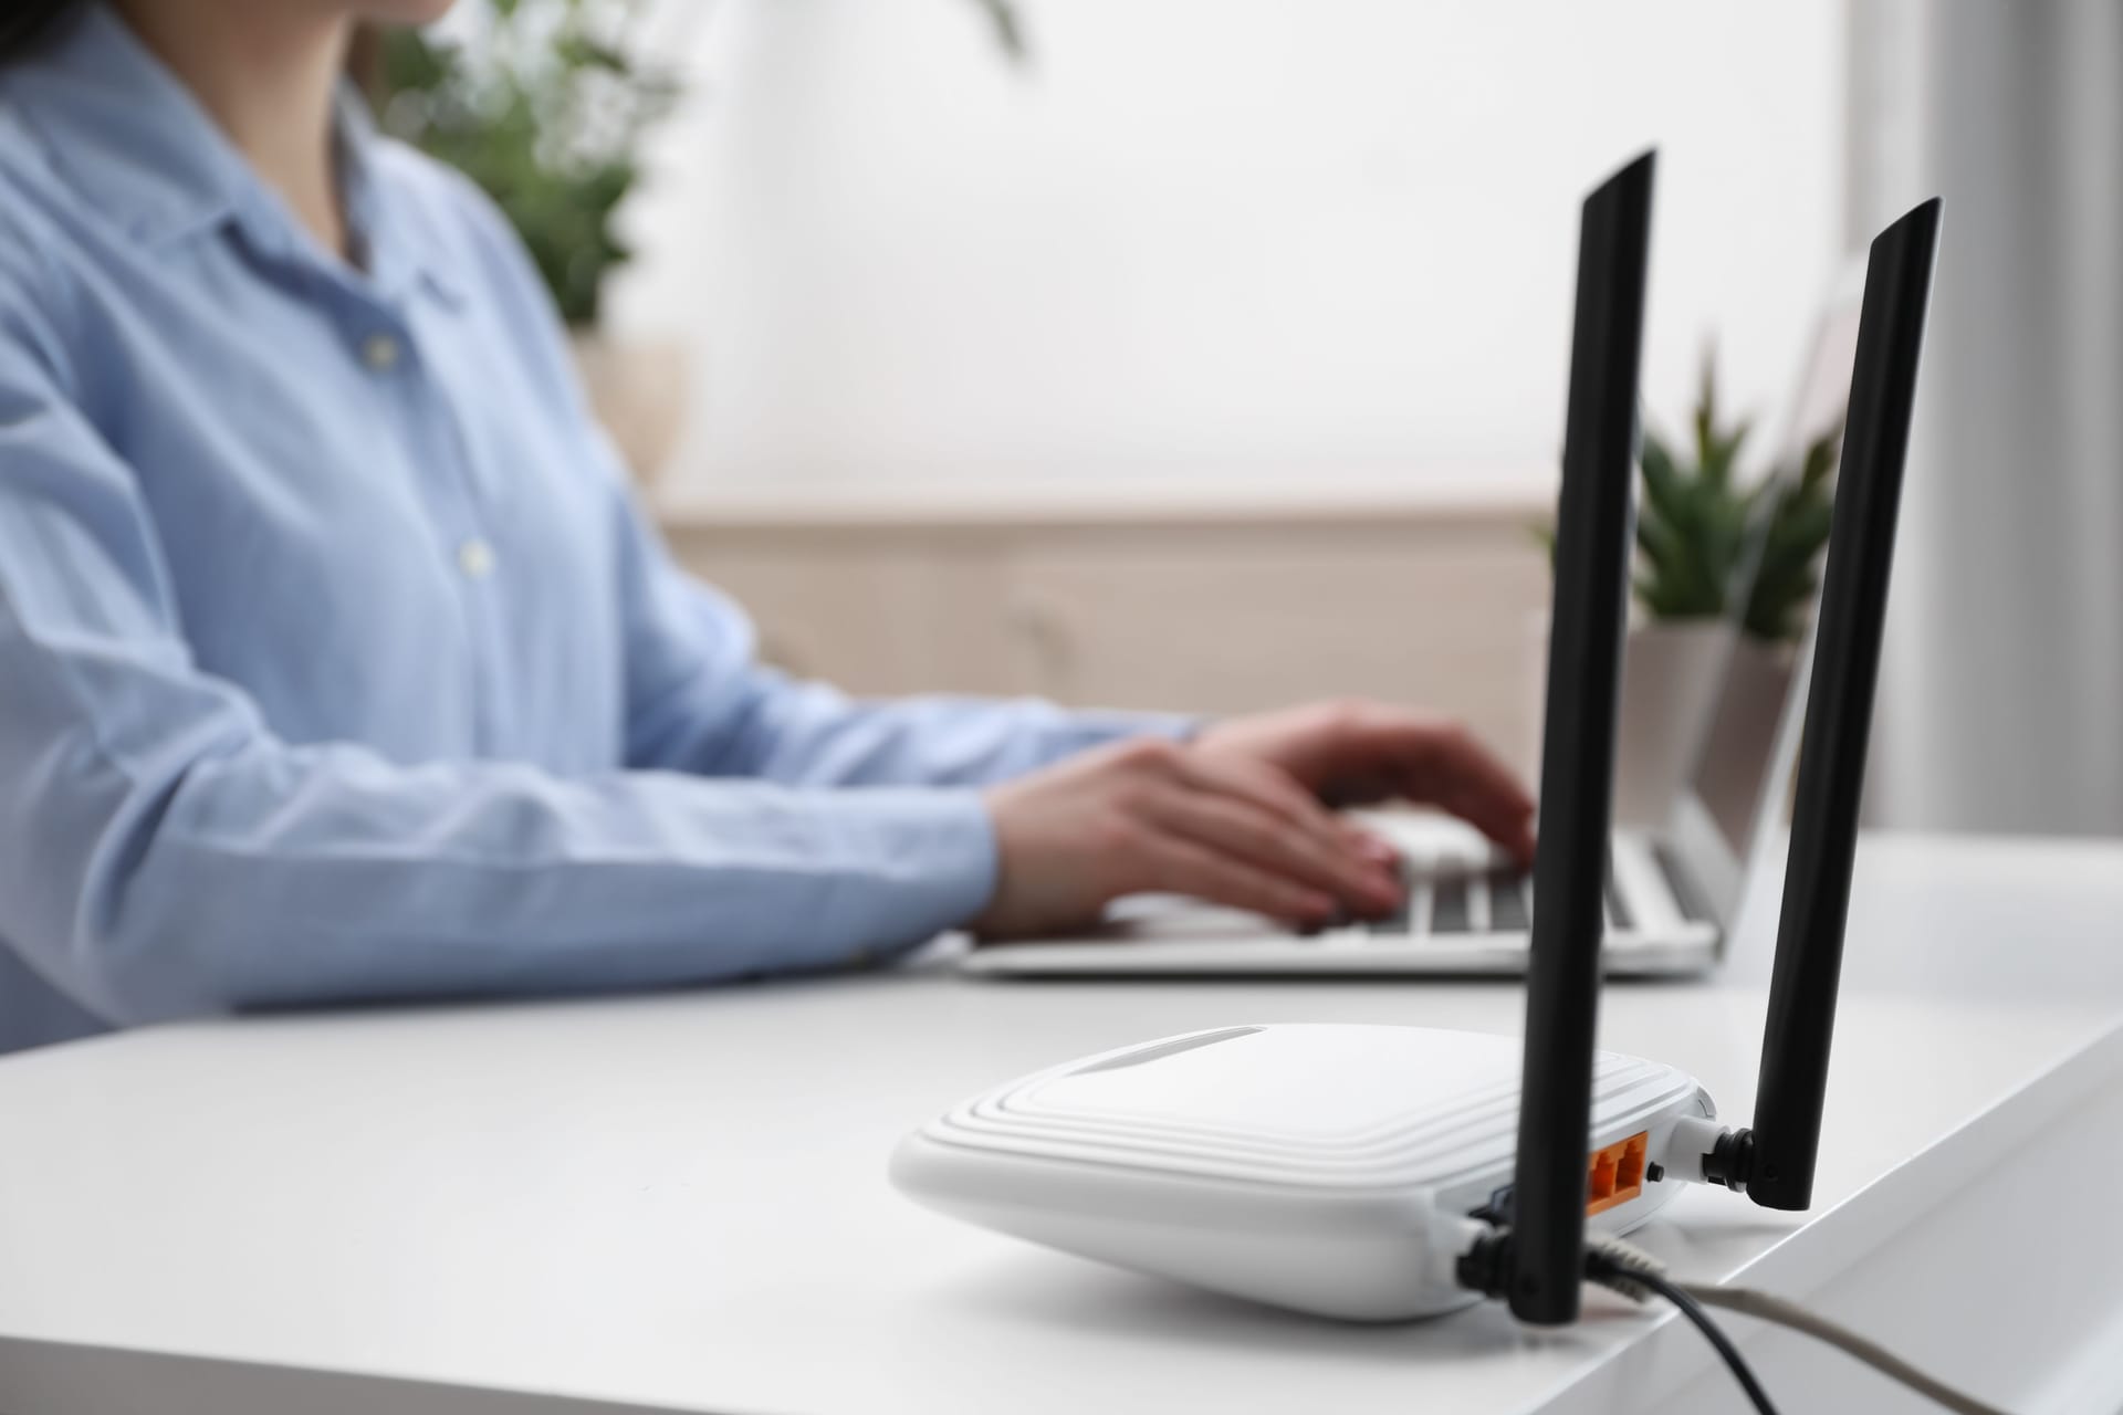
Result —
<instances>
[{"instance_id":1,"label":"black router antenna on the right, tilted, nearer the curtain","mask_svg":"<svg viewBox=\"0 0 2123 1415\"><path fill-rule=\"evenodd\" d=\"M1858 800L1894 564L1894 520L1936 248L1938 197L1932 197L1881 231L1866 259L1849 422L1792 804L1777 967L1768 984L1762 1078L1751 1141L1741 1141L1739 1158L1747 1192L1766 1209L1805 1209L1813 1201L1828 1044L1843 972L1843 921L1858 849Z\"/></svg>"}]
</instances>

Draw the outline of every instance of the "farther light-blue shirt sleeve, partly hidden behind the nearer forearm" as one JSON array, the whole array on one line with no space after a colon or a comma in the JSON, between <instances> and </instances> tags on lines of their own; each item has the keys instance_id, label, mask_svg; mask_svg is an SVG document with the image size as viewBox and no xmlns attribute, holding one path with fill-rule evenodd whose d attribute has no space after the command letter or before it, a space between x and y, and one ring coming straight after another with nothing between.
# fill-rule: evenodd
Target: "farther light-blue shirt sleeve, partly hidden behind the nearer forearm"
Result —
<instances>
[{"instance_id":1,"label":"farther light-blue shirt sleeve, partly hidden behind the nearer forearm","mask_svg":"<svg viewBox=\"0 0 2123 1415\"><path fill-rule=\"evenodd\" d=\"M1185 738L1195 719L1066 711L1034 698L853 700L754 660L728 598L671 562L620 496L628 605L628 762L788 785L987 785L1132 736Z\"/></svg>"}]
</instances>

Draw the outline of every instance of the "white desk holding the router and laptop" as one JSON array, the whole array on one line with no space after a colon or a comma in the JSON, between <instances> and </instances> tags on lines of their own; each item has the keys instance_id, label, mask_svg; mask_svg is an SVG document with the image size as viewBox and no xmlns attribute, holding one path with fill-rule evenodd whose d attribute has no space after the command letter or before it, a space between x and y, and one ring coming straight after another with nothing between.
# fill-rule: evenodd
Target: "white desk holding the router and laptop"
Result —
<instances>
[{"instance_id":1,"label":"white desk holding the router and laptop","mask_svg":"<svg viewBox=\"0 0 2123 1415\"><path fill-rule=\"evenodd\" d=\"M1749 938L1705 986L1609 989L1605 1044L1692 1067L1745 1118L1762 953ZM1734 1409L1694 1332L1611 1300L1552 1337L1495 1309L1331 1326L955 1226L885 1184L907 1129L1002 1078L1325 1018L1516 1031L1518 993L915 972L11 1059L0 1411ZM1645 1241L2021 1409L2115 1411L2119 1020L2123 846L1875 840L1815 1213L1692 1190ZM1739 1330L1788 1411L1921 1409Z\"/></svg>"}]
</instances>

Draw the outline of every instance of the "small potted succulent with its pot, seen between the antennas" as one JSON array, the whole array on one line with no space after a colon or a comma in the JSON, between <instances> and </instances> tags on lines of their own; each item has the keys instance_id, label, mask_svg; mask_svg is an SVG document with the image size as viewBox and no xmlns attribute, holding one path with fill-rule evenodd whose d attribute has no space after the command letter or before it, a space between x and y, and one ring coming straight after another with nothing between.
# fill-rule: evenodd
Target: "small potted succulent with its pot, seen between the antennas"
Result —
<instances>
[{"instance_id":1,"label":"small potted succulent with its pot, seen between the antennas","mask_svg":"<svg viewBox=\"0 0 2123 1415\"><path fill-rule=\"evenodd\" d=\"M1616 743L1620 823L1664 823L1705 747L1760 759L1777 730L1819 588L1843 429L1836 418L1798 465L1754 482L1739 475L1749 433L1749 420L1728 420L1718 405L1705 354L1688 441L1643 437ZM1732 683L1724 702L1722 683Z\"/></svg>"}]
</instances>

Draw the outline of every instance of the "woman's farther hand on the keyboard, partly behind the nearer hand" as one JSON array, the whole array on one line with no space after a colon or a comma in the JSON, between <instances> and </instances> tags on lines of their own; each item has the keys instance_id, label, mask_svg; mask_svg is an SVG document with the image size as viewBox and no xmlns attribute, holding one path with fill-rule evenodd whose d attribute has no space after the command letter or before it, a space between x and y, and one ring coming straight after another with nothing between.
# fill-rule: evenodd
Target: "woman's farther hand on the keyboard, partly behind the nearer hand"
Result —
<instances>
[{"instance_id":1,"label":"woman's farther hand on the keyboard, partly behind the nearer hand","mask_svg":"<svg viewBox=\"0 0 2123 1415\"><path fill-rule=\"evenodd\" d=\"M1408 800L1450 810L1533 863L1533 798L1467 728L1363 698L1214 723L1202 755L1265 762L1333 806Z\"/></svg>"}]
</instances>

